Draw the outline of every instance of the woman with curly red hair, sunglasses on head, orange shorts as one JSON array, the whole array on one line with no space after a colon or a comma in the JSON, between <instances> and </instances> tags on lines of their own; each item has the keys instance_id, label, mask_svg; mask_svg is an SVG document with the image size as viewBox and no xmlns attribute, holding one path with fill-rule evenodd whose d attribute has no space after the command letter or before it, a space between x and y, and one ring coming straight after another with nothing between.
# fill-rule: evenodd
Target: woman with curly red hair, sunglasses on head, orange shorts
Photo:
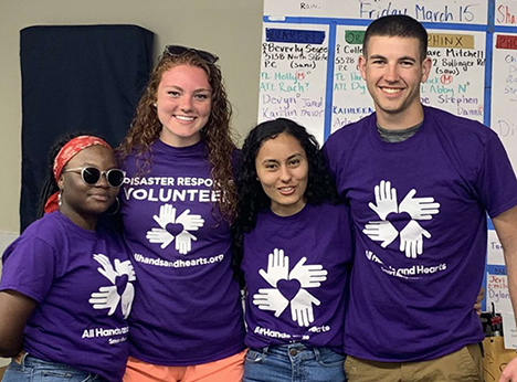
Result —
<instances>
[{"instance_id":1,"label":"woman with curly red hair, sunglasses on head, orange shorts","mask_svg":"<svg viewBox=\"0 0 517 382\"><path fill-rule=\"evenodd\" d=\"M167 46L120 147L120 214L139 279L126 382L242 378L230 235L238 151L217 61Z\"/></svg>"}]
</instances>

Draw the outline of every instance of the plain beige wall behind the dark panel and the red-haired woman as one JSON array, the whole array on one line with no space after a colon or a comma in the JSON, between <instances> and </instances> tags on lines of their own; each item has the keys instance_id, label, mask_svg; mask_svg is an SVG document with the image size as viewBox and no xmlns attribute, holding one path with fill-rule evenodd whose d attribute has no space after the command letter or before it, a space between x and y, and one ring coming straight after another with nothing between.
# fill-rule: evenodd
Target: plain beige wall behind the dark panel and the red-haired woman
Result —
<instances>
[{"instance_id":1,"label":"plain beige wall behind the dark panel and the red-haired woman","mask_svg":"<svg viewBox=\"0 0 517 382\"><path fill-rule=\"evenodd\" d=\"M20 30L30 25L137 24L167 44L221 57L233 126L244 136L258 104L262 0L0 0L0 236L19 231L21 181Z\"/></svg>"}]
</instances>

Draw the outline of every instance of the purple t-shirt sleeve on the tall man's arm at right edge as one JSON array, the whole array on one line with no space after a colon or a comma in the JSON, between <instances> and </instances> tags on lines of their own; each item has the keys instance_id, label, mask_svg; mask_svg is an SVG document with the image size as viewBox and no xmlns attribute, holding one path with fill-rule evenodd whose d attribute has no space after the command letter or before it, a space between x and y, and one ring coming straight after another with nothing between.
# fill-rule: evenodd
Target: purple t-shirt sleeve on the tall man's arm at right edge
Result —
<instances>
[{"instance_id":1,"label":"purple t-shirt sleeve on the tall man's arm at right edge","mask_svg":"<svg viewBox=\"0 0 517 382\"><path fill-rule=\"evenodd\" d=\"M490 217L517 205L517 179L506 150L495 134L487 140L477 187Z\"/></svg>"}]
</instances>

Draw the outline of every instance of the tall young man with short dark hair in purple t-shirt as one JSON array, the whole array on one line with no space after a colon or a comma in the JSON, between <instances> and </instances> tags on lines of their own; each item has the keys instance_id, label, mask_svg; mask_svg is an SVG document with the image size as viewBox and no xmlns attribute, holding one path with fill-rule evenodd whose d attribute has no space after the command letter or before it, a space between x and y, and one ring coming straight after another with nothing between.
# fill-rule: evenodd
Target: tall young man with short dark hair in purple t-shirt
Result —
<instances>
[{"instance_id":1,"label":"tall young man with short dark hair in purple t-shirt","mask_svg":"<svg viewBox=\"0 0 517 382\"><path fill-rule=\"evenodd\" d=\"M420 102L425 29L407 15L368 28L361 75L376 113L324 150L356 233L345 320L349 381L483 381L472 303L487 223L503 244L517 306L517 180L496 134ZM502 381L517 380L517 361Z\"/></svg>"}]
</instances>

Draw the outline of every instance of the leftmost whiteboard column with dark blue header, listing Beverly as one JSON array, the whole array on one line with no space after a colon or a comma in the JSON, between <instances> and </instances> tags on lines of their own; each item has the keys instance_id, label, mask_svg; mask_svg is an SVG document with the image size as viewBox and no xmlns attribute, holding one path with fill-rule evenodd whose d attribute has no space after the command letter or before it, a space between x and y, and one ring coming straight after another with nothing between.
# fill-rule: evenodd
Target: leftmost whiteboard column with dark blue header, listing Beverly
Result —
<instances>
[{"instance_id":1,"label":"leftmost whiteboard column with dark blue header, listing Beverly","mask_svg":"<svg viewBox=\"0 0 517 382\"><path fill-rule=\"evenodd\" d=\"M276 26L264 23L258 119L263 121L283 117L296 120L321 142L326 107L328 26ZM288 35L271 39L265 36L266 33L275 33L276 30ZM305 42L307 39L321 36L320 43ZM298 42L273 41L285 39Z\"/></svg>"}]
</instances>

